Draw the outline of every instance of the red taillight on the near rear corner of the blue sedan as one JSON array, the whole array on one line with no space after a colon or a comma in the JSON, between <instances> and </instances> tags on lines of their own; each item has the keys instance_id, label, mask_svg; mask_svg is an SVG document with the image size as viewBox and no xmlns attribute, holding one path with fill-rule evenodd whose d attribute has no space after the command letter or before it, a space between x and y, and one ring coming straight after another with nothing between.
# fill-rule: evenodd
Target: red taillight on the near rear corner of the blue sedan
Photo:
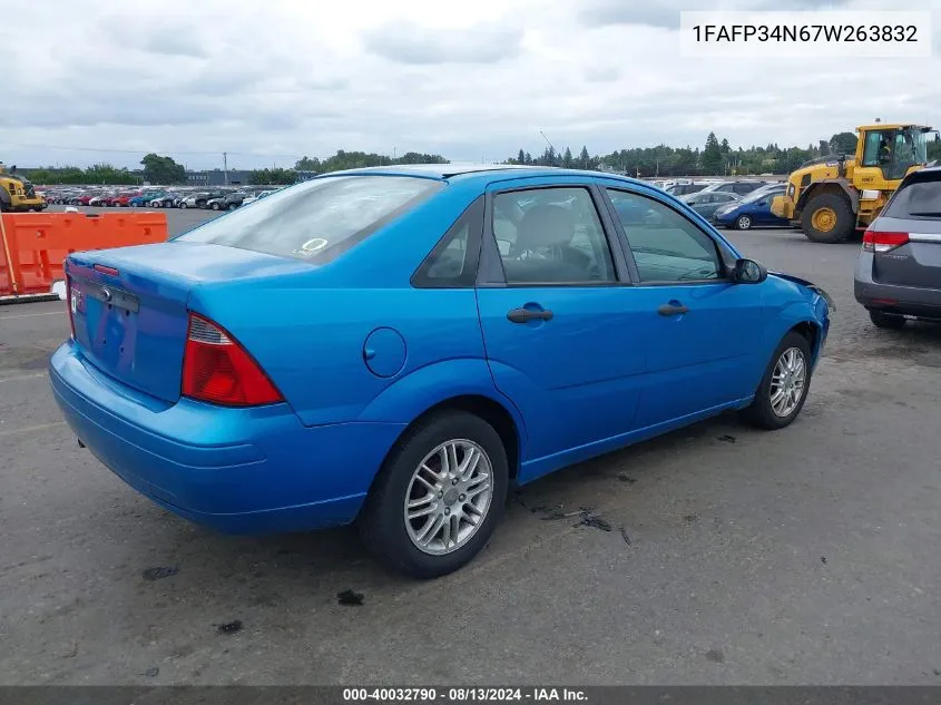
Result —
<instances>
[{"instance_id":1,"label":"red taillight on the near rear corner of the blue sedan","mask_svg":"<svg viewBox=\"0 0 941 705\"><path fill-rule=\"evenodd\" d=\"M184 396L224 407L284 401L258 363L218 325L189 314L183 358Z\"/></svg>"}]
</instances>

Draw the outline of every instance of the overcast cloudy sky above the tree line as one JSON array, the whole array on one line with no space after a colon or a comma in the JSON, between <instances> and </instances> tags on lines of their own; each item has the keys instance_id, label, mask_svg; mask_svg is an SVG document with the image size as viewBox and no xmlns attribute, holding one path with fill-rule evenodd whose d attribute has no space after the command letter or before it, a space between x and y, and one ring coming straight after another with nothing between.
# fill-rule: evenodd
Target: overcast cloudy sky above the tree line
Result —
<instances>
[{"instance_id":1,"label":"overcast cloudy sky above the tree line","mask_svg":"<svg viewBox=\"0 0 941 705\"><path fill-rule=\"evenodd\" d=\"M337 148L498 160L810 143L941 124L941 59L679 57L679 10L941 0L45 0L2 11L0 160L291 166ZM941 42L935 39L935 47ZM108 151L110 150L110 151ZM128 150L128 151L125 151Z\"/></svg>"}]
</instances>

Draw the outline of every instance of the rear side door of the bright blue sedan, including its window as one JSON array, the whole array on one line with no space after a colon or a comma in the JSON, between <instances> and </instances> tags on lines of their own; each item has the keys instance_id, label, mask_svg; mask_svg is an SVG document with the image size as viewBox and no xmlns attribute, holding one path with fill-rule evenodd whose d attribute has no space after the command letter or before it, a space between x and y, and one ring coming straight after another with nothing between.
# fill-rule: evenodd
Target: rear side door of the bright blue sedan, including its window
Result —
<instances>
[{"instance_id":1,"label":"rear side door of the bright blue sedan, including its window","mask_svg":"<svg viewBox=\"0 0 941 705\"><path fill-rule=\"evenodd\" d=\"M478 309L493 381L526 420L521 480L629 432L645 368L602 195L558 178L488 190Z\"/></svg>"}]
</instances>

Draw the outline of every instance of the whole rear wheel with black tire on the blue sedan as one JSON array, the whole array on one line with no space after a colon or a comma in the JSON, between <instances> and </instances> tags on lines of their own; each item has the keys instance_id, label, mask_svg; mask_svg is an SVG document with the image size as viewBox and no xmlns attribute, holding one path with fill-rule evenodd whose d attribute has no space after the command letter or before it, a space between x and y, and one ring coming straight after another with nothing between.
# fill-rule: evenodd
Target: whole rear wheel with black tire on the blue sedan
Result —
<instances>
[{"instance_id":1,"label":"whole rear wheel with black tire on the blue sedan","mask_svg":"<svg viewBox=\"0 0 941 705\"><path fill-rule=\"evenodd\" d=\"M366 548L386 567L435 578L468 564L503 513L509 468L483 419L444 412L393 449L359 519Z\"/></svg>"}]
</instances>

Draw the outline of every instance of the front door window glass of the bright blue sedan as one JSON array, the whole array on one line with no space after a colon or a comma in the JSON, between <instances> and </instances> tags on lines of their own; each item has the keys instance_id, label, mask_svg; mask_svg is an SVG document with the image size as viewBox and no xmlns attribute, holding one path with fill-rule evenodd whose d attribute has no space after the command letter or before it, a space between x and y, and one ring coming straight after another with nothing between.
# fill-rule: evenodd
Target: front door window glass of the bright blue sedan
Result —
<instances>
[{"instance_id":1,"label":"front door window glass of the bright blue sedan","mask_svg":"<svg viewBox=\"0 0 941 705\"><path fill-rule=\"evenodd\" d=\"M697 282L725 277L715 241L673 208L638 194L608 189L641 283ZM643 212L625 221L625 212Z\"/></svg>"}]
</instances>

